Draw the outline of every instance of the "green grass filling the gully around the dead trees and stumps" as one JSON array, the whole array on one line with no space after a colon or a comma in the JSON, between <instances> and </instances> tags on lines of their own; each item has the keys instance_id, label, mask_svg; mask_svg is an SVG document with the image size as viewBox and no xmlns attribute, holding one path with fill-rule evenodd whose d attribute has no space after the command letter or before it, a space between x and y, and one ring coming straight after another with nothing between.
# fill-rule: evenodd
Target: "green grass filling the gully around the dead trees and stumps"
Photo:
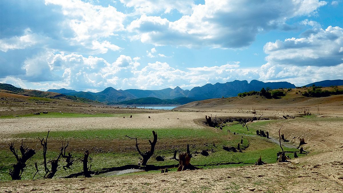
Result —
<instances>
[{"instance_id":1,"label":"green grass filling the gully around the dead trees and stumps","mask_svg":"<svg viewBox=\"0 0 343 193\"><path fill-rule=\"evenodd\" d=\"M154 129L157 132L158 140L154 155L148 161L148 164L154 164L156 166L163 166L169 164L177 164L176 160L170 159L173 157L174 150L186 151L186 143L194 141L195 146L190 143L190 151L193 155L191 163L193 165L199 166L203 169L211 168L229 168L229 167L239 167L254 164L255 161L262 156L262 161L267 163L276 162L276 153L281 151L279 144L273 143L270 140L256 136L256 129L266 130L267 126L271 122L280 120L271 120L271 121L260 121L249 123L247 131L246 127L242 127L240 124L225 126L223 130L216 129L193 129L193 128L157 128ZM281 122L280 122L281 123ZM231 133L226 130L230 129ZM137 137L140 144L148 144L146 139L152 138L152 129L92 129L92 130L73 130L73 131L51 131L49 134L49 139L63 140L63 139L78 139L78 140L105 140L103 143L110 143L111 140L130 140L125 135ZM267 129L268 130L268 129ZM233 132L239 133L239 135L233 135ZM21 133L14 134L11 137L14 140L20 140L21 138L32 138L36 139L37 136L44 137L47 132L30 132L30 133ZM243 136L243 138L242 138ZM159 143L164 141L170 141L173 139L178 139L179 143L167 146L158 146ZM240 140L243 139L243 144L240 144L241 148L246 148L243 152L227 152L223 150L223 146L234 146L237 147L237 144L240 143ZM133 140L133 139L132 139ZM107 142L106 142L107 141ZM183 141L183 142L182 142ZM216 141L215 146L213 146L212 141ZM39 141L38 141L39 142ZM25 143L25 141L24 141ZM129 146L129 147L128 147ZM48 146L49 148L49 146ZM69 147L72 151L73 147ZM134 145L122 146L121 149L125 151L111 151L111 152L101 152L95 153L91 152L90 154L90 163L92 164L92 170L97 171L101 168L109 168L115 166L123 166L126 164L137 164L139 159L139 154L135 150ZM213 149L214 152L210 152L210 156L205 157L201 154L196 154L195 152L200 152L203 149ZM141 148L142 151L145 151L144 148ZM296 148L286 148L285 151L296 151ZM75 162L73 164L73 171L65 172L63 169L60 169L56 177L63 177L70 173L76 173L82 170L81 159L83 157L83 151L72 151ZM52 157L55 157L58 153L49 151L48 160ZM165 156L164 162L158 162L155 160L155 157L161 155ZM288 154L291 156L291 154ZM298 154L298 156L303 156ZM291 156L293 158L293 156ZM60 162L60 166L64 164L64 159ZM31 159L27 164L27 169L23 173L23 179L31 179L35 173L34 162L38 163L43 162L42 151L38 153ZM241 162L239 164L223 164L229 162ZM1 180L10 180L8 174L9 169L12 167L12 164L15 163L15 158L9 150L0 150L0 179ZM39 166L42 168L42 165ZM176 169L172 169L174 171ZM150 171L150 173L157 173L160 171ZM138 172L138 173L149 173L149 172ZM125 174L132 175L132 174ZM100 177L100 176L99 176Z\"/></svg>"}]
</instances>

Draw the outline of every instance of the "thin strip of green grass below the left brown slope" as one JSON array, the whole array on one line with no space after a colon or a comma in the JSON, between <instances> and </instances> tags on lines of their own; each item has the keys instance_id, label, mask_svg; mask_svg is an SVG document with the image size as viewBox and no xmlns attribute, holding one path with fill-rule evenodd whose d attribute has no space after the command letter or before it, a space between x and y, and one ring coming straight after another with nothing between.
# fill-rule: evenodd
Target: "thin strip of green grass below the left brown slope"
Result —
<instances>
[{"instance_id":1,"label":"thin strip of green grass below the left brown slope","mask_svg":"<svg viewBox=\"0 0 343 193\"><path fill-rule=\"evenodd\" d=\"M62 112L63 113L63 112ZM19 117L38 117L38 118L77 118L77 117L123 117L129 116L129 114L106 114L106 113L96 113L92 114L79 114L79 113L59 113L59 112L49 112L47 114L40 113L40 115L26 114L14 117L13 115L5 115L0 118L19 118Z\"/></svg>"}]
</instances>

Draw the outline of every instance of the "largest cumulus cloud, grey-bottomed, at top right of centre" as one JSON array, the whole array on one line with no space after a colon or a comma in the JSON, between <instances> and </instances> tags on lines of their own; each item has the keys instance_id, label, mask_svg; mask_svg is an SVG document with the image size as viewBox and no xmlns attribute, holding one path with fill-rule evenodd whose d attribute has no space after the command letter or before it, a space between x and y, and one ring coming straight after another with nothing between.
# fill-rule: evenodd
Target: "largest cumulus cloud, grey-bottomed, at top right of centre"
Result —
<instances>
[{"instance_id":1,"label":"largest cumulus cloud, grey-bottomed, at top right of centre","mask_svg":"<svg viewBox=\"0 0 343 193\"><path fill-rule=\"evenodd\" d=\"M327 2L306 1L215 1L193 6L191 15L171 22L160 16L142 15L127 26L143 43L241 48L250 45L261 31L283 28L285 21L315 13Z\"/></svg>"}]
</instances>

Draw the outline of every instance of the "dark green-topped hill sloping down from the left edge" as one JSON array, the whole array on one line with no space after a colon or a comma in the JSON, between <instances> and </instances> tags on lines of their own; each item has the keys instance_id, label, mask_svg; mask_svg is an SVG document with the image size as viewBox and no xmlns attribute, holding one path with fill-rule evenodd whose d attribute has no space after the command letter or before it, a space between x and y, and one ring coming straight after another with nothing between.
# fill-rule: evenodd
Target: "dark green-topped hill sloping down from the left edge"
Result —
<instances>
[{"instance_id":1,"label":"dark green-topped hill sloping down from the left edge","mask_svg":"<svg viewBox=\"0 0 343 193\"><path fill-rule=\"evenodd\" d=\"M67 99L67 100L72 100L72 101L81 102L81 103L99 103L98 101L94 101L94 100L90 100L86 98L67 96L64 94L56 93L56 92L22 89L22 88L15 87L11 84L4 84L4 83L0 83L0 90L4 92L13 93L13 94L21 94L25 96L33 96L33 97L40 97L40 98L64 99L64 100Z\"/></svg>"}]
</instances>

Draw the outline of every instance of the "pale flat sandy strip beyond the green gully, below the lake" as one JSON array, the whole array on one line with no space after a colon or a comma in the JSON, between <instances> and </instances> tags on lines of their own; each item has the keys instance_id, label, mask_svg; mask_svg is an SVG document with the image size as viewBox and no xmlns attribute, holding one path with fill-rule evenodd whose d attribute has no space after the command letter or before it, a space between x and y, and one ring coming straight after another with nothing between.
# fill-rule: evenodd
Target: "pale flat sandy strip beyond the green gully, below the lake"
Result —
<instances>
[{"instance_id":1,"label":"pale flat sandy strip beyond the green gully, below the lake","mask_svg":"<svg viewBox=\"0 0 343 193\"><path fill-rule=\"evenodd\" d=\"M35 118L16 117L0 119L1 138L8 134L54 130L83 130L109 128L199 128L194 120L204 119L206 112L175 112L133 114L128 117ZM253 117L251 113L215 113L212 116ZM150 116L151 118L148 118ZM278 115L280 116L280 115ZM277 116L277 117L278 117Z\"/></svg>"}]
</instances>

